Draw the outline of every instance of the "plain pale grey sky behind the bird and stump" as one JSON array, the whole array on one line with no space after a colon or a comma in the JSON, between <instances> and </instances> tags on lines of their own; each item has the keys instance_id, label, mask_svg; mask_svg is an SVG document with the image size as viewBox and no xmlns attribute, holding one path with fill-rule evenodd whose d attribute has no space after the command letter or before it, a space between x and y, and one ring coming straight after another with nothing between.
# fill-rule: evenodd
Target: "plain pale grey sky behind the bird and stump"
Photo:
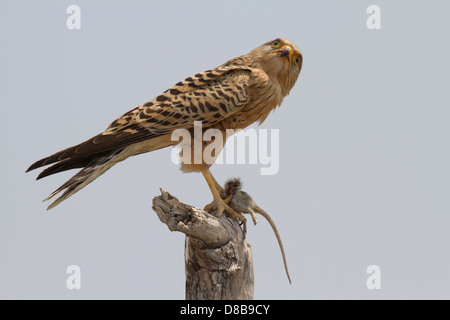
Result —
<instances>
[{"instance_id":1,"label":"plain pale grey sky behind the bird and stump","mask_svg":"<svg viewBox=\"0 0 450 320\"><path fill-rule=\"evenodd\" d=\"M450 298L448 1L1 1L0 298L184 298L184 238L151 210L163 187L203 206L170 149L128 159L46 212L74 172L35 160L103 131L179 80L284 37L300 78L261 128L280 171L217 165L275 219L249 224L258 299ZM66 8L81 7L81 30ZM366 8L381 7L368 30ZM68 265L82 289L66 288ZM381 267L381 290L366 268Z\"/></svg>"}]
</instances>

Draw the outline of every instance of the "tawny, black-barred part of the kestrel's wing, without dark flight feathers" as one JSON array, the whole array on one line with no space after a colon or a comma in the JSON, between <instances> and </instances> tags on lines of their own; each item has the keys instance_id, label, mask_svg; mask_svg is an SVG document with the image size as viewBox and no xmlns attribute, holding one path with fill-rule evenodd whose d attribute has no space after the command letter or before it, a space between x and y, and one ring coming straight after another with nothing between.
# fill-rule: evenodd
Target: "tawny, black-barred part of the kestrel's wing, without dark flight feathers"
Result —
<instances>
[{"instance_id":1,"label":"tawny, black-barred part of the kestrel's wing, without dark flight feathers","mask_svg":"<svg viewBox=\"0 0 450 320\"><path fill-rule=\"evenodd\" d=\"M103 133L132 132L138 125L153 134L214 124L239 111L248 99L251 70L219 67L189 77L158 97L125 113Z\"/></svg>"}]
</instances>

